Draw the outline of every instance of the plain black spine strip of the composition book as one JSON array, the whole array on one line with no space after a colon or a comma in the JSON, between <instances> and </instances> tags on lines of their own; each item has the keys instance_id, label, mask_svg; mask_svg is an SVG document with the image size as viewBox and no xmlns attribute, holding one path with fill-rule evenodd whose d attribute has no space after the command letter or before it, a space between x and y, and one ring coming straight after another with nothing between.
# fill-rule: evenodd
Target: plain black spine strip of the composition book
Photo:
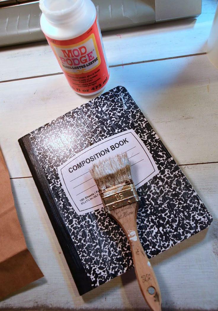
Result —
<instances>
[{"instance_id":1,"label":"plain black spine strip of the composition book","mask_svg":"<svg viewBox=\"0 0 218 311\"><path fill-rule=\"evenodd\" d=\"M23 155L27 161L32 177L35 181L38 192L41 196L42 202L51 221L52 227L55 231L58 242L61 246L66 262L70 268L77 289L80 295L93 289L90 278L87 276L84 266L80 257L75 249L70 234L66 225L61 218L58 207L48 185L46 174L36 161L34 150L28 135L18 140Z\"/></svg>"}]
</instances>

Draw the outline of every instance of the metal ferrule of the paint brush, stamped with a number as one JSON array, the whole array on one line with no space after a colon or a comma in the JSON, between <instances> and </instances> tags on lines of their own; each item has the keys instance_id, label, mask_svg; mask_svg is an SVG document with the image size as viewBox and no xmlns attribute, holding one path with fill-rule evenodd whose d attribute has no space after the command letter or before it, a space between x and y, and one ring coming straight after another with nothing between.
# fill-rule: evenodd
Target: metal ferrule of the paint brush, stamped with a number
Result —
<instances>
[{"instance_id":1,"label":"metal ferrule of the paint brush, stamped with a number","mask_svg":"<svg viewBox=\"0 0 218 311\"><path fill-rule=\"evenodd\" d=\"M139 201L133 183L121 183L104 189L100 191L100 196L105 212Z\"/></svg>"}]
</instances>

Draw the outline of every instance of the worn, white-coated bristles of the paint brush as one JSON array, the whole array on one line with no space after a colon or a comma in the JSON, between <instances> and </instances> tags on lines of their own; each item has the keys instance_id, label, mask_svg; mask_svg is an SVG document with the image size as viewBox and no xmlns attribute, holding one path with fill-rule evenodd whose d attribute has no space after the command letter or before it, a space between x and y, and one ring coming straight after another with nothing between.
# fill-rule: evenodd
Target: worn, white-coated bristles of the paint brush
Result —
<instances>
[{"instance_id":1,"label":"worn, white-coated bristles of the paint brush","mask_svg":"<svg viewBox=\"0 0 218 311\"><path fill-rule=\"evenodd\" d=\"M126 152L93 164L90 173L99 190L104 190L120 183L133 183Z\"/></svg>"}]
</instances>

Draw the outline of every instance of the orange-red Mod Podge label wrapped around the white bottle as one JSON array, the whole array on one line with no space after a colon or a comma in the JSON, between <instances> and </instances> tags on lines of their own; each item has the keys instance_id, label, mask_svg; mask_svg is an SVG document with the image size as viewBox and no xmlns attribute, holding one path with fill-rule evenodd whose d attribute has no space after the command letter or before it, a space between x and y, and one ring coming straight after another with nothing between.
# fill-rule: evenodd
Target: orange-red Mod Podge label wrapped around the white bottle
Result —
<instances>
[{"instance_id":1,"label":"orange-red Mod Podge label wrapped around the white bottle","mask_svg":"<svg viewBox=\"0 0 218 311\"><path fill-rule=\"evenodd\" d=\"M99 91L109 79L109 69L97 24L97 17L82 35L69 40L46 36L72 89L81 94Z\"/></svg>"}]
</instances>

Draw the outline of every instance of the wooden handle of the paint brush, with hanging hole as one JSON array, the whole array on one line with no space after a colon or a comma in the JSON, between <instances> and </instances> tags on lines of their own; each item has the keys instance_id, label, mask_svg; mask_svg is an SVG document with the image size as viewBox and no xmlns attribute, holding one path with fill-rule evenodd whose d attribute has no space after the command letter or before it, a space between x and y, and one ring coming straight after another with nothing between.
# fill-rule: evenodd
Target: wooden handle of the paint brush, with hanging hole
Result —
<instances>
[{"instance_id":1,"label":"wooden handle of the paint brush, with hanging hole","mask_svg":"<svg viewBox=\"0 0 218 311\"><path fill-rule=\"evenodd\" d=\"M161 293L156 276L138 237L136 215L138 203L109 211L124 230L133 256L135 274L139 288L148 306L153 311L161 311Z\"/></svg>"}]
</instances>

